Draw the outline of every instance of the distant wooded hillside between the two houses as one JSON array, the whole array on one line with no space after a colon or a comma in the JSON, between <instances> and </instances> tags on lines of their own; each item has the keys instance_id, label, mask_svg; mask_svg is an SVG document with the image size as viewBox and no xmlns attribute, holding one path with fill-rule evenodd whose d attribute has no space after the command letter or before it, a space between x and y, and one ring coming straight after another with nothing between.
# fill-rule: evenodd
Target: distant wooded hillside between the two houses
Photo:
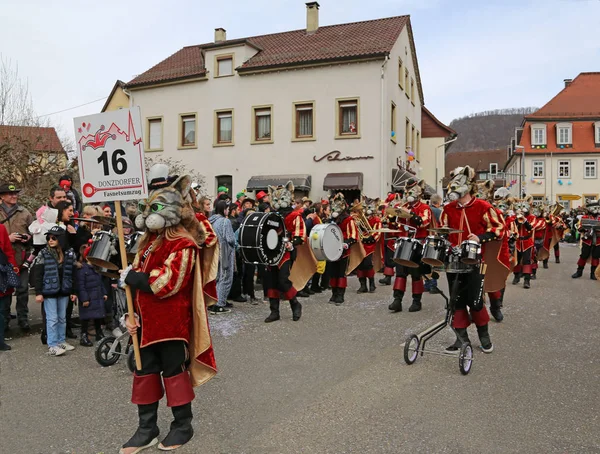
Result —
<instances>
[{"instance_id":1,"label":"distant wooded hillside between the two houses","mask_svg":"<svg viewBox=\"0 0 600 454\"><path fill-rule=\"evenodd\" d=\"M452 120L449 126L458 133L458 140L448 152L506 148L523 116L536 110L536 107L489 110Z\"/></svg>"}]
</instances>

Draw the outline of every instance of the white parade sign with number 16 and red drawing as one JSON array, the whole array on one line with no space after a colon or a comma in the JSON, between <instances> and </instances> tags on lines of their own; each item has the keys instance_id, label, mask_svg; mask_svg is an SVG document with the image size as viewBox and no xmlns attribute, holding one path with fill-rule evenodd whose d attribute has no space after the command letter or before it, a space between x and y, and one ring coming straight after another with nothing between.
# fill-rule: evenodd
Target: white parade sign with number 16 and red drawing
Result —
<instances>
[{"instance_id":1,"label":"white parade sign with number 16 and red drawing","mask_svg":"<svg viewBox=\"0 0 600 454\"><path fill-rule=\"evenodd\" d=\"M74 121L83 202L147 198L139 108Z\"/></svg>"}]
</instances>

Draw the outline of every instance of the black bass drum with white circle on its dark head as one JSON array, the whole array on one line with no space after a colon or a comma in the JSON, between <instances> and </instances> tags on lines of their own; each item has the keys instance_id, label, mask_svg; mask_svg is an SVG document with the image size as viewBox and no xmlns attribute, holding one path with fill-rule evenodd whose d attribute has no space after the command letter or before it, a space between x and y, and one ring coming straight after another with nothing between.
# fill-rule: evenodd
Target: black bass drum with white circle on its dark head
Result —
<instances>
[{"instance_id":1,"label":"black bass drum with white circle on its dark head","mask_svg":"<svg viewBox=\"0 0 600 454\"><path fill-rule=\"evenodd\" d=\"M247 263L276 265L285 253L285 224L278 213L252 213L240 225L240 251Z\"/></svg>"}]
</instances>

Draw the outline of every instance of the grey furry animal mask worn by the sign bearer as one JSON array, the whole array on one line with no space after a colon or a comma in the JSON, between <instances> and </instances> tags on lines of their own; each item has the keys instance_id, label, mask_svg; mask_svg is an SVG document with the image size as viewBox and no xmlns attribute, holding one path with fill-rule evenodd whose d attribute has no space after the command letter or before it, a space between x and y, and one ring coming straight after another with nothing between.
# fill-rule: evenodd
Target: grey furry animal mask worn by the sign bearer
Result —
<instances>
[{"instance_id":1,"label":"grey furry animal mask worn by the sign bearer","mask_svg":"<svg viewBox=\"0 0 600 454\"><path fill-rule=\"evenodd\" d=\"M162 231L181 223L183 208L189 193L191 179L185 175L177 178L169 186L150 191L147 200L139 202L140 213L135 218L138 229L152 232Z\"/></svg>"}]
</instances>

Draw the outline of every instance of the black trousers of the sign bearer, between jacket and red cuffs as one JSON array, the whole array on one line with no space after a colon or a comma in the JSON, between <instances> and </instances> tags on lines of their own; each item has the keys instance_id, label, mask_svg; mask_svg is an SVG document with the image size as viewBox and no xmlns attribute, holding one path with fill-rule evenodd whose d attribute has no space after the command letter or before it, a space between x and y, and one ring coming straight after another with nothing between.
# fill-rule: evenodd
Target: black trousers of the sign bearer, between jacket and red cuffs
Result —
<instances>
[{"instance_id":1,"label":"black trousers of the sign bearer, between jacket and red cuffs","mask_svg":"<svg viewBox=\"0 0 600 454\"><path fill-rule=\"evenodd\" d=\"M140 356L142 370L136 371L137 375L162 372L163 377L174 377L187 370L190 361L187 344L182 340L158 342L140 348Z\"/></svg>"}]
</instances>

